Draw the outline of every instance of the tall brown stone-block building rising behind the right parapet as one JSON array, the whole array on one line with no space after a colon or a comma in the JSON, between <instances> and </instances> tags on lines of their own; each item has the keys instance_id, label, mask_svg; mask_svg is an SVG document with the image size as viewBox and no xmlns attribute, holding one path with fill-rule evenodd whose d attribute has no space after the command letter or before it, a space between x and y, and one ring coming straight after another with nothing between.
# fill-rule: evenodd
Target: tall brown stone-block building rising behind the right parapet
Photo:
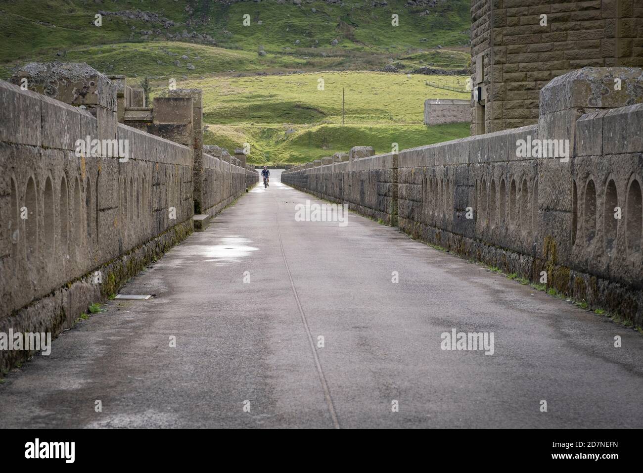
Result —
<instances>
[{"instance_id":1,"label":"tall brown stone-block building rising behind the right parapet","mask_svg":"<svg viewBox=\"0 0 643 473\"><path fill-rule=\"evenodd\" d=\"M535 124L540 89L584 66L643 66L643 0L472 0L471 134Z\"/></svg>"}]
</instances>

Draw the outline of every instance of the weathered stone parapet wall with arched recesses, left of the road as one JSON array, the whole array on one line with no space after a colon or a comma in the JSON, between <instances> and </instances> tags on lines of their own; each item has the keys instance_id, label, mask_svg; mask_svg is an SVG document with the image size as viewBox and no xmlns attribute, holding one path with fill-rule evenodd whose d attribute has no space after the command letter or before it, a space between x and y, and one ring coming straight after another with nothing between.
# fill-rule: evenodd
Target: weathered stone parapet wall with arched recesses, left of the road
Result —
<instances>
[{"instance_id":1,"label":"weathered stone parapet wall with arched recesses, left of the road","mask_svg":"<svg viewBox=\"0 0 643 473\"><path fill-rule=\"evenodd\" d=\"M185 239L195 176L212 214L258 181L251 167L212 156L195 174L194 147L118 123L116 86L82 66L74 75L62 66L42 77L32 71L26 90L0 81L1 333L55 338ZM50 96L31 90L40 79ZM77 153L87 137L127 142L127 159ZM1 350L0 377L31 354Z\"/></svg>"}]
</instances>

